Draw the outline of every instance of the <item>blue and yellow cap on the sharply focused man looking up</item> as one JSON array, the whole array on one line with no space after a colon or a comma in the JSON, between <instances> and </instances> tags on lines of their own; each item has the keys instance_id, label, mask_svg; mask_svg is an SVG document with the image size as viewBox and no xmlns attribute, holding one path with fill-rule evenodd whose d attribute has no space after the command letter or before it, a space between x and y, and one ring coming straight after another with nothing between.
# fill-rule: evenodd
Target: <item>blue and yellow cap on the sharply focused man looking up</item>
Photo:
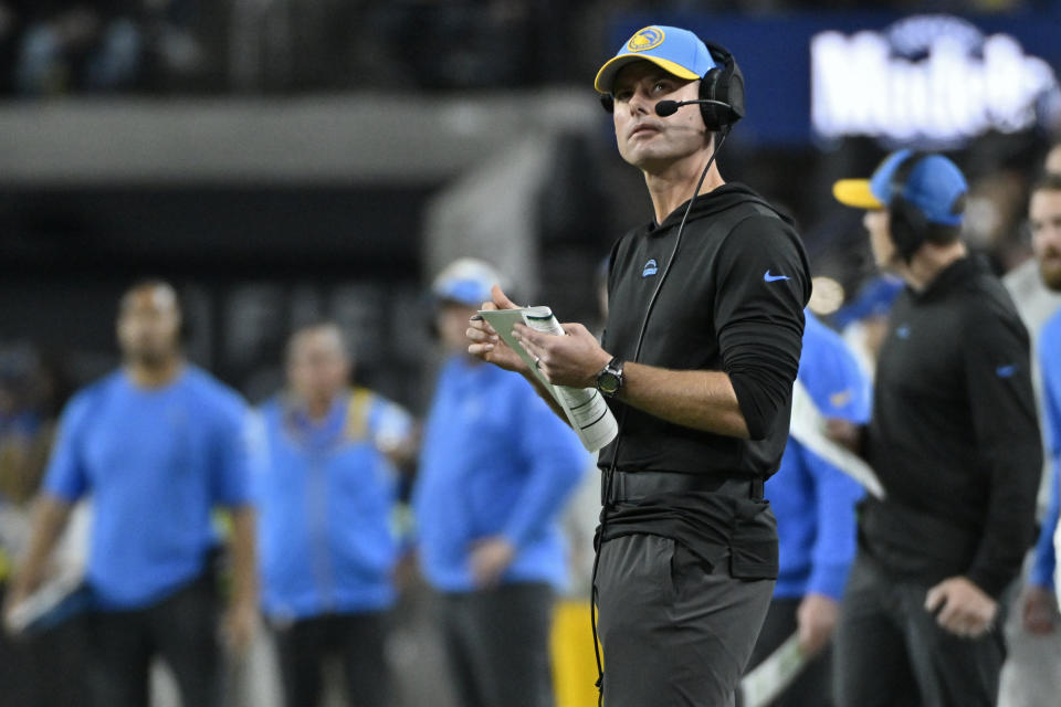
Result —
<instances>
[{"instance_id":1,"label":"blue and yellow cap on the sharply focused man looking up","mask_svg":"<svg viewBox=\"0 0 1061 707\"><path fill-rule=\"evenodd\" d=\"M676 27L653 24L634 32L614 56L597 72L593 87L611 93L619 70L631 62L649 61L679 78L694 81L717 66L698 36Z\"/></svg>"}]
</instances>

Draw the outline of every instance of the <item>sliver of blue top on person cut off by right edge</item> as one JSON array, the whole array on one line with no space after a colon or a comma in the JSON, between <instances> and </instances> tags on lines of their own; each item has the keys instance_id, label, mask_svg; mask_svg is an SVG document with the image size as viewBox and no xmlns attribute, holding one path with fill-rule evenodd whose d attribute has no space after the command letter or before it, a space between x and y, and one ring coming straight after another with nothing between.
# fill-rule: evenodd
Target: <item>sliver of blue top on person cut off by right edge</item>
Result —
<instances>
[{"instance_id":1,"label":"sliver of blue top on person cut off by right edge","mask_svg":"<svg viewBox=\"0 0 1061 707\"><path fill-rule=\"evenodd\" d=\"M1039 335L1039 361L1042 366L1042 392L1047 409L1047 439L1050 442L1050 457L1053 460L1053 473L1050 478L1050 500L1047 515L1042 518L1039 541L1036 542L1030 584L1053 588L1053 570L1057 566L1053 536L1058 529L1059 507L1061 507L1061 312L1054 314L1043 325Z\"/></svg>"}]
</instances>

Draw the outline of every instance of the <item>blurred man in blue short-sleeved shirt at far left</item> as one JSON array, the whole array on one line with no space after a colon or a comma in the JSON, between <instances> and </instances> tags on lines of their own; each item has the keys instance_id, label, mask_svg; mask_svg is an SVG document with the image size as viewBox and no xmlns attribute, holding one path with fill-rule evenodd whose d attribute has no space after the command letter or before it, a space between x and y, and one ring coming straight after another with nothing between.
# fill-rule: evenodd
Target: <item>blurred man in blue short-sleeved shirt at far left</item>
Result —
<instances>
[{"instance_id":1,"label":"blurred man in blue short-sleeved shirt at far left","mask_svg":"<svg viewBox=\"0 0 1061 707\"><path fill-rule=\"evenodd\" d=\"M93 704L149 704L155 656L182 701L220 704L219 633L233 653L258 614L243 400L180 350L181 312L158 281L132 287L117 321L123 367L67 404L7 608L41 584L75 503L91 497L85 581L93 597ZM216 507L231 517L232 601L218 629Z\"/></svg>"}]
</instances>

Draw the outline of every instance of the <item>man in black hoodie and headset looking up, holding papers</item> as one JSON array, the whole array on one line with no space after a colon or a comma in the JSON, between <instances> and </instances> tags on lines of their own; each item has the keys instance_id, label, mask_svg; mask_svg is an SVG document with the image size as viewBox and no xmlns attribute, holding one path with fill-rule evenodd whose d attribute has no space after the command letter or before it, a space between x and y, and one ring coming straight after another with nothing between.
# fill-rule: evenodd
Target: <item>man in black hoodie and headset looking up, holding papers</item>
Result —
<instances>
[{"instance_id":1,"label":"man in black hoodie and headset looking up, holding papers","mask_svg":"<svg viewBox=\"0 0 1061 707\"><path fill-rule=\"evenodd\" d=\"M763 482L788 434L810 275L791 224L714 163L743 114L725 50L648 27L596 87L655 218L612 249L601 344L580 324L516 334L548 380L596 386L619 419L599 461L605 703L717 707L733 703L777 577ZM515 305L495 288L484 306ZM485 323L469 337L535 382Z\"/></svg>"}]
</instances>

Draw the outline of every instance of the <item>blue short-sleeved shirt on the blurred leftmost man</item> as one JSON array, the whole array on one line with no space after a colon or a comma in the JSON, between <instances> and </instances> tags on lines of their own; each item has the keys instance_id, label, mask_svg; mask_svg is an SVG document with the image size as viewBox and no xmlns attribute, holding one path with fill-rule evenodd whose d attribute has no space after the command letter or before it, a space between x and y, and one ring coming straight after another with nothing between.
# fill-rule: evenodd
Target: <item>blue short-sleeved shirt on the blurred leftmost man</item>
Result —
<instances>
[{"instance_id":1,"label":"blue short-sleeved shirt on the blurred leftmost man","mask_svg":"<svg viewBox=\"0 0 1061 707\"><path fill-rule=\"evenodd\" d=\"M211 509L250 503L246 418L195 366L158 389L116 371L70 401L43 489L92 496L86 578L103 609L148 606L207 570Z\"/></svg>"}]
</instances>

